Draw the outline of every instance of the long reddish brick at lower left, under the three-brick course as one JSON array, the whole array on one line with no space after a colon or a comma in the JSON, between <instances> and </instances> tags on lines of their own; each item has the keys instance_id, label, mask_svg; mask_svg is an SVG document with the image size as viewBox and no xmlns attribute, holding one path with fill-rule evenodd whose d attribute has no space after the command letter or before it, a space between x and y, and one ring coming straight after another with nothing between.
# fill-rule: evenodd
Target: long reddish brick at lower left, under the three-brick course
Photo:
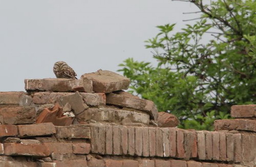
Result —
<instances>
[{"instance_id":1,"label":"long reddish brick at lower left, under the three-brick course","mask_svg":"<svg viewBox=\"0 0 256 167\"><path fill-rule=\"evenodd\" d=\"M26 155L46 157L50 155L49 149L42 144L24 145L21 143L5 143L4 150L6 155Z\"/></svg>"}]
</instances>

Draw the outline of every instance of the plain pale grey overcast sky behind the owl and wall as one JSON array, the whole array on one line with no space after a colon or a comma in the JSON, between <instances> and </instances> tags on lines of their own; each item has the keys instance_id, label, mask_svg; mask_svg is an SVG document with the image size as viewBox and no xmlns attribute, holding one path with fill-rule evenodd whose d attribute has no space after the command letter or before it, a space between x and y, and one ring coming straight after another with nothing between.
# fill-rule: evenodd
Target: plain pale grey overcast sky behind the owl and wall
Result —
<instances>
[{"instance_id":1,"label":"plain pale grey overcast sky behind the owl and wall","mask_svg":"<svg viewBox=\"0 0 256 167\"><path fill-rule=\"evenodd\" d=\"M177 23L198 9L170 0L0 0L0 91L25 91L25 78L55 77L56 61L80 77L116 71L127 58L154 62L144 41L156 25Z\"/></svg>"}]
</instances>

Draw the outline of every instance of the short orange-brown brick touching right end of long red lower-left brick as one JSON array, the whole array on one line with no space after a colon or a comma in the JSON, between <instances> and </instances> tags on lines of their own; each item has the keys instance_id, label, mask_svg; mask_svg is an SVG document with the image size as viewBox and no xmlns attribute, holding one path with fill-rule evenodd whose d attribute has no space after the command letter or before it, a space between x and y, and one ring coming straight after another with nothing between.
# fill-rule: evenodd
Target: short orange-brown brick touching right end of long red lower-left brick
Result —
<instances>
[{"instance_id":1,"label":"short orange-brown brick touching right end of long red lower-left brick","mask_svg":"<svg viewBox=\"0 0 256 167\"><path fill-rule=\"evenodd\" d=\"M72 143L44 143L50 153L71 154L73 153Z\"/></svg>"}]
</instances>

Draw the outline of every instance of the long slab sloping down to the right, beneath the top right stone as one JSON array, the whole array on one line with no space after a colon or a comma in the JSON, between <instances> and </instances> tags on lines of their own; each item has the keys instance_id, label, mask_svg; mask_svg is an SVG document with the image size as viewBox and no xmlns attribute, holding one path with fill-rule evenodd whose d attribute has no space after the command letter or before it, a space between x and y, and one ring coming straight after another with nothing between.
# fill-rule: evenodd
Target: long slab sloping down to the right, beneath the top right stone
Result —
<instances>
[{"instance_id":1,"label":"long slab sloping down to the right, beneath the top right stone","mask_svg":"<svg viewBox=\"0 0 256 167\"><path fill-rule=\"evenodd\" d=\"M142 110L149 114L151 119L155 121L158 119L157 107L154 102L150 100L109 93L106 94L106 103Z\"/></svg>"}]
</instances>

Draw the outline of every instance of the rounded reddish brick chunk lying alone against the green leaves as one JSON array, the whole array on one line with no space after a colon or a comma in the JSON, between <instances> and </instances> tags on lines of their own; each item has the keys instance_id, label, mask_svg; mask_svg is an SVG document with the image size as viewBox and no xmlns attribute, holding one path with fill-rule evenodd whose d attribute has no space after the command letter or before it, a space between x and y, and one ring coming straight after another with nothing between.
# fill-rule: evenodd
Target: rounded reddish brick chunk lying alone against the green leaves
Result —
<instances>
[{"instance_id":1,"label":"rounded reddish brick chunk lying alone against the green leaves","mask_svg":"<svg viewBox=\"0 0 256 167\"><path fill-rule=\"evenodd\" d=\"M179 125L179 120L173 114L160 112L158 114L157 124L159 127L176 127Z\"/></svg>"}]
</instances>

